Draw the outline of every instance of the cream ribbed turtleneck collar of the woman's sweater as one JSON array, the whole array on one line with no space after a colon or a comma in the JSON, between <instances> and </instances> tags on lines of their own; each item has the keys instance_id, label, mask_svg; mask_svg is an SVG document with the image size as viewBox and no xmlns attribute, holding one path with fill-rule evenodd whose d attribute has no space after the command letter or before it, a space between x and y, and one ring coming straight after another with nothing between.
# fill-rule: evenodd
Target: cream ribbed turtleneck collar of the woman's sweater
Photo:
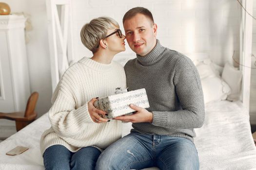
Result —
<instances>
[{"instance_id":1,"label":"cream ribbed turtleneck collar of the woman's sweater","mask_svg":"<svg viewBox=\"0 0 256 170\"><path fill-rule=\"evenodd\" d=\"M91 58L83 57L81 60L79 60L79 63L82 63L89 68L92 68L97 71L108 71L111 68L113 68L113 61L110 64L103 64L99 63L97 61L92 60Z\"/></svg>"}]
</instances>

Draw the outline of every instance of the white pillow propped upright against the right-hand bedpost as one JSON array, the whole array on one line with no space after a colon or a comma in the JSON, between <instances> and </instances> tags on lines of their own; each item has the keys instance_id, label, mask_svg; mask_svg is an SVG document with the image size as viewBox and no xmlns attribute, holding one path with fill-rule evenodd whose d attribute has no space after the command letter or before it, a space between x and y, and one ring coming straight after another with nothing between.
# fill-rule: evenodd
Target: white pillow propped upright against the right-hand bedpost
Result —
<instances>
[{"instance_id":1,"label":"white pillow propped upright against the right-hand bedpost","mask_svg":"<svg viewBox=\"0 0 256 170\"><path fill-rule=\"evenodd\" d=\"M227 100L237 101L240 97L242 72L226 63L221 75L221 78L230 86L231 93L228 95Z\"/></svg>"}]
</instances>

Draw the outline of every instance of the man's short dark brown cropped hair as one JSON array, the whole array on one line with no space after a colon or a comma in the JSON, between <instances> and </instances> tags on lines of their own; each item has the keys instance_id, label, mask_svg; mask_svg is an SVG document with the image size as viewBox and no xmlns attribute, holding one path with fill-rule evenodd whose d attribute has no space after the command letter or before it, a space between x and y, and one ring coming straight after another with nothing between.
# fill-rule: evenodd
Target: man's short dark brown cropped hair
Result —
<instances>
[{"instance_id":1,"label":"man's short dark brown cropped hair","mask_svg":"<svg viewBox=\"0 0 256 170\"><path fill-rule=\"evenodd\" d=\"M137 14L143 14L144 16L148 17L153 22L153 24L155 23L152 13L147 8L135 7L135 8L130 9L129 11L127 11L124 14L123 24L126 19L131 19L132 17L136 16Z\"/></svg>"}]
</instances>

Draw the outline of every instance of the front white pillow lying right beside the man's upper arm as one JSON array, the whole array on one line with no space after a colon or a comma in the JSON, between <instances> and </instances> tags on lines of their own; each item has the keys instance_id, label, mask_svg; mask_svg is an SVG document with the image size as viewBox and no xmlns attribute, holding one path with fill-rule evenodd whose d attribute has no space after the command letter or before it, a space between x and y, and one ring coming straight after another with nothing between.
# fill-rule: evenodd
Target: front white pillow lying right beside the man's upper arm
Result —
<instances>
[{"instance_id":1,"label":"front white pillow lying right beside the man's upper arm","mask_svg":"<svg viewBox=\"0 0 256 170\"><path fill-rule=\"evenodd\" d=\"M204 103L226 100L231 89L220 77L206 77L201 79Z\"/></svg>"}]
</instances>

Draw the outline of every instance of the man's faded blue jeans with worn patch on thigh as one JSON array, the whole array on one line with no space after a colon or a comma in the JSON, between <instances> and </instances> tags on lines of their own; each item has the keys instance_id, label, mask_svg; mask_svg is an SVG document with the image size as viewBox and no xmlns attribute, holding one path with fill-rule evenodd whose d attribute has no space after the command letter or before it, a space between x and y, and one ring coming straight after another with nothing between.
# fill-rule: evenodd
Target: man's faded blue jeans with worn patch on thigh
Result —
<instances>
[{"instance_id":1,"label":"man's faded blue jeans with worn patch on thigh","mask_svg":"<svg viewBox=\"0 0 256 170\"><path fill-rule=\"evenodd\" d=\"M198 170L193 142L182 137L130 133L110 145L98 157L96 170Z\"/></svg>"}]
</instances>

